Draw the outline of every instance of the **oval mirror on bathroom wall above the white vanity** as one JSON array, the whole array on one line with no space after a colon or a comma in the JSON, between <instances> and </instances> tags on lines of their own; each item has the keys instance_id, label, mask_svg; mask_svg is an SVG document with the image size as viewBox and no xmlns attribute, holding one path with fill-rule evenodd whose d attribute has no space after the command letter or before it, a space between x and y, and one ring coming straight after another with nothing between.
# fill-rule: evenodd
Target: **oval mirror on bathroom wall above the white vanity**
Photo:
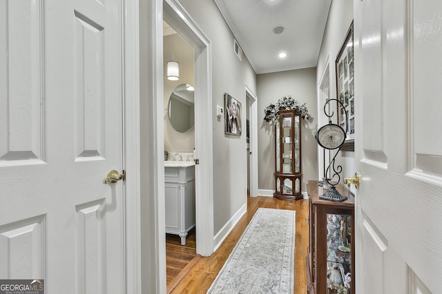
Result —
<instances>
[{"instance_id":1,"label":"oval mirror on bathroom wall above the white vanity","mask_svg":"<svg viewBox=\"0 0 442 294\"><path fill-rule=\"evenodd\" d=\"M175 131L189 132L195 123L193 87L181 84L175 87L169 98L169 121Z\"/></svg>"}]
</instances>

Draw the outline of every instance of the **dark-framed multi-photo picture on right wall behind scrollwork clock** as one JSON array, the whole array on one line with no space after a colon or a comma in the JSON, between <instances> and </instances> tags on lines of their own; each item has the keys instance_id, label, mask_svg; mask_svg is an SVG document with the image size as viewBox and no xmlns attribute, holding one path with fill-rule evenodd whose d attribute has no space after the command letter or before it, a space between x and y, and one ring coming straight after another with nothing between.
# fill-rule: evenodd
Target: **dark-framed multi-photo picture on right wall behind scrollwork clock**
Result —
<instances>
[{"instance_id":1,"label":"dark-framed multi-photo picture on right wall behind scrollwork clock","mask_svg":"<svg viewBox=\"0 0 442 294\"><path fill-rule=\"evenodd\" d=\"M353 54L353 21L343 45L336 56L336 98L343 103L338 105L338 125L347 129L347 138L342 150L354 151L354 54ZM347 112L348 121L345 121Z\"/></svg>"}]
</instances>

